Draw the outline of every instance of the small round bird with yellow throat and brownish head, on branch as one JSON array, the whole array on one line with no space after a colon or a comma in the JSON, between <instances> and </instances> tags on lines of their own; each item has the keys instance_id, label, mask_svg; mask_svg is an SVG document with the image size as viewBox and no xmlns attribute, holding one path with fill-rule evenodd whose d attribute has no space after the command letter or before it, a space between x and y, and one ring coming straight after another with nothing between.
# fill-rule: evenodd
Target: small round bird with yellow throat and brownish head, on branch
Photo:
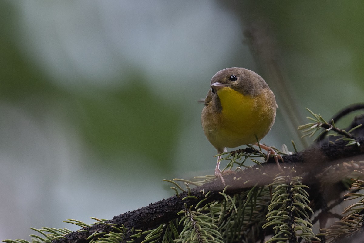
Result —
<instances>
[{"instance_id":1,"label":"small round bird with yellow throat and brownish head, on branch","mask_svg":"<svg viewBox=\"0 0 364 243\"><path fill-rule=\"evenodd\" d=\"M223 69L212 77L202 109L201 123L207 140L223 153L226 148L256 144L272 128L277 103L272 90L255 72L245 68ZM270 153L268 146L262 148ZM281 156L275 156L276 162ZM217 159L215 176L225 185ZM278 164L279 166L279 164Z\"/></svg>"}]
</instances>

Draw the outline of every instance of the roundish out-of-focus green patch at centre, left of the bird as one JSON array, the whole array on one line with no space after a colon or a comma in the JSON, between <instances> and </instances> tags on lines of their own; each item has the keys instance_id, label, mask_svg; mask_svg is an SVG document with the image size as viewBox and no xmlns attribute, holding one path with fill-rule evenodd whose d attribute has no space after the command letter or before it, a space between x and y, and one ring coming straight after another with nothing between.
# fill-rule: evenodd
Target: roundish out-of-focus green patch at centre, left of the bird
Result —
<instances>
[{"instance_id":1,"label":"roundish out-of-focus green patch at centre, left of the bird","mask_svg":"<svg viewBox=\"0 0 364 243\"><path fill-rule=\"evenodd\" d=\"M144 155L170 168L180 130L179 107L151 94L139 75L122 89L98 96L79 99L83 113L79 121L87 141L103 154L120 150Z\"/></svg>"}]
</instances>

